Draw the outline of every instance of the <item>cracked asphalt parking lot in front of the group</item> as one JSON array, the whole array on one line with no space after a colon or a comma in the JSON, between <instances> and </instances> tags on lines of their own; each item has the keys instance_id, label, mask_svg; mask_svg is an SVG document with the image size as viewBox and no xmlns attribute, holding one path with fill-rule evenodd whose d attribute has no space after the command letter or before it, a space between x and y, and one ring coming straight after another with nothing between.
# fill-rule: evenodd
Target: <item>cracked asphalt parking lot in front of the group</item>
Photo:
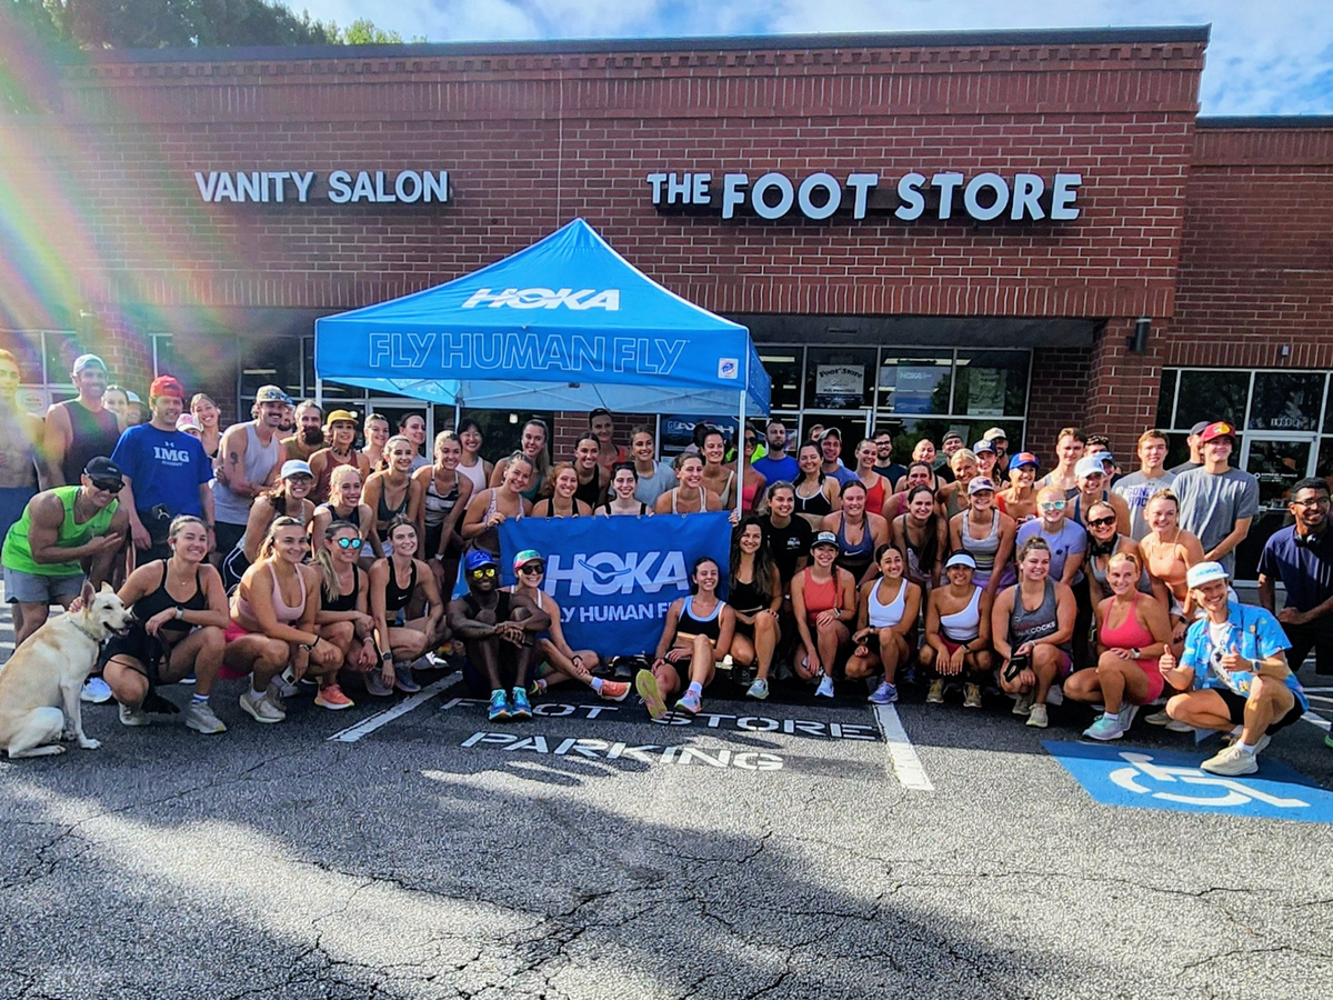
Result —
<instances>
[{"instance_id":1,"label":"cracked asphalt parking lot in front of the group","mask_svg":"<svg viewBox=\"0 0 1333 1000\"><path fill-rule=\"evenodd\" d=\"M1194 780L1213 744L1188 735L1138 723L1088 749L1076 711L1041 732L912 691L878 715L846 689L652 724L557 688L496 725L441 673L260 727L239 689L215 696L219 737L91 707L101 749L0 761L0 997L1324 1000L1333 981L1313 723L1274 740L1262 783L1221 787ZM1125 804L1093 797L1089 767Z\"/></svg>"}]
</instances>

